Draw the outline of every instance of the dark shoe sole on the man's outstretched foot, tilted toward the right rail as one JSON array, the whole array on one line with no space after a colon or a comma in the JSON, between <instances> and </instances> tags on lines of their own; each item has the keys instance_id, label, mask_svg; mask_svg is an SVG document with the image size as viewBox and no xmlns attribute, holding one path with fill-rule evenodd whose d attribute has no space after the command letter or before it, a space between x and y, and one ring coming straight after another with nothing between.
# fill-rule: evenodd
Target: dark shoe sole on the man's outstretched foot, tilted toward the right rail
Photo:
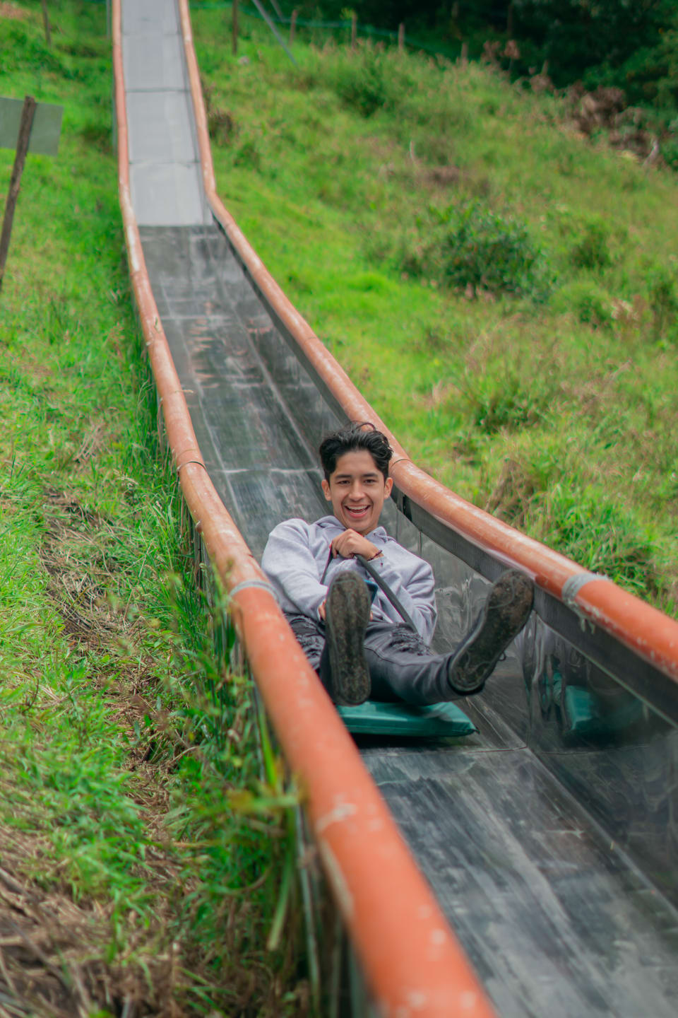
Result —
<instances>
[{"instance_id":1,"label":"dark shoe sole on the man's outstretched foot, tilted toward the right rail","mask_svg":"<svg viewBox=\"0 0 678 1018\"><path fill-rule=\"evenodd\" d=\"M479 692L512 639L530 618L532 580L511 569L494 583L473 630L449 663L447 681L456 693Z\"/></svg>"}]
</instances>

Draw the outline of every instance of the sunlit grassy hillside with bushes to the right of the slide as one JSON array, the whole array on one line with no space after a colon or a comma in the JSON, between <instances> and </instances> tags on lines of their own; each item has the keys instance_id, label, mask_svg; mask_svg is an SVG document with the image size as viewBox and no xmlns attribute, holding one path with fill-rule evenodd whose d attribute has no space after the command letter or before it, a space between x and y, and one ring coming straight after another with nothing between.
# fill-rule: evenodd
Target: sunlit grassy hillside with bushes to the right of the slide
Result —
<instances>
[{"instance_id":1,"label":"sunlit grassy hillside with bushes to the right of the slide","mask_svg":"<svg viewBox=\"0 0 678 1018\"><path fill-rule=\"evenodd\" d=\"M676 176L477 64L193 22L220 192L411 454L675 614Z\"/></svg>"}]
</instances>

